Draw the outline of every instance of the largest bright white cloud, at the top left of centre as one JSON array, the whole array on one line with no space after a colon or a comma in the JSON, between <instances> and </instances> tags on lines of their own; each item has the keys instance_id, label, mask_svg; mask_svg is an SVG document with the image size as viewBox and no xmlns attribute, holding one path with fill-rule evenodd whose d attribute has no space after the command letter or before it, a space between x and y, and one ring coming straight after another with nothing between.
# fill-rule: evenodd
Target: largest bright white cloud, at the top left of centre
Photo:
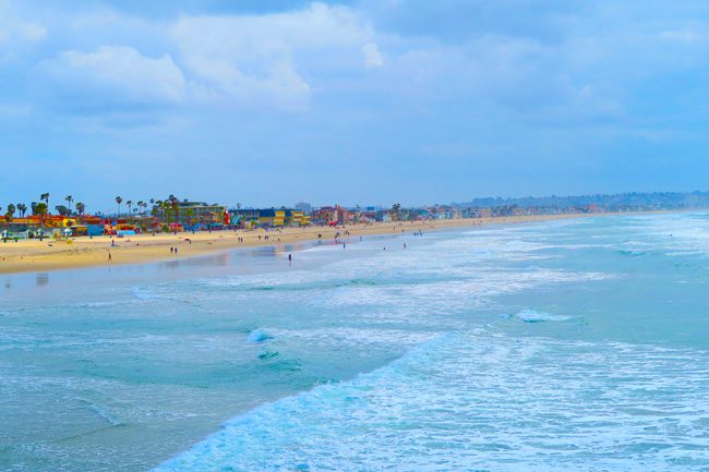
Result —
<instances>
[{"instance_id":1,"label":"largest bright white cloud, at the top left of centre","mask_svg":"<svg viewBox=\"0 0 709 472\"><path fill-rule=\"evenodd\" d=\"M374 33L351 9L313 3L286 13L184 16L171 37L200 99L298 109L310 99L313 71L361 68L357 58Z\"/></svg>"}]
</instances>

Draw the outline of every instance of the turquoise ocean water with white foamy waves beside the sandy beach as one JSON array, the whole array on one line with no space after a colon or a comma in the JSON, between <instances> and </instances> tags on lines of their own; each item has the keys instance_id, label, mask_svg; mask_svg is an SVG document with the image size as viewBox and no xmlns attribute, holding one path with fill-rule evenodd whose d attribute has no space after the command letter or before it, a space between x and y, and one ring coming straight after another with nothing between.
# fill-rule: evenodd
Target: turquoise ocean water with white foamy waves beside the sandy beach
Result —
<instances>
[{"instance_id":1,"label":"turquoise ocean water with white foamy waves beside the sandy beach","mask_svg":"<svg viewBox=\"0 0 709 472\"><path fill-rule=\"evenodd\" d=\"M708 288L707 214L2 277L0 470L709 471Z\"/></svg>"}]
</instances>

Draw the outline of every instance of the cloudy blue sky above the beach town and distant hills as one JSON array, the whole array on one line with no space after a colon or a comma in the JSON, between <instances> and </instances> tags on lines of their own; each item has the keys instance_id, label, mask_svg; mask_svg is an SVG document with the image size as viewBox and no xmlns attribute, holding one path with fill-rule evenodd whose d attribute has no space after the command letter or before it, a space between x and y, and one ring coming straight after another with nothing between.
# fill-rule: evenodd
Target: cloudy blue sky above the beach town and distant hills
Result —
<instances>
[{"instance_id":1,"label":"cloudy blue sky above the beach town and distant hills","mask_svg":"<svg viewBox=\"0 0 709 472\"><path fill-rule=\"evenodd\" d=\"M708 23L692 0L0 0L0 206L709 190Z\"/></svg>"}]
</instances>

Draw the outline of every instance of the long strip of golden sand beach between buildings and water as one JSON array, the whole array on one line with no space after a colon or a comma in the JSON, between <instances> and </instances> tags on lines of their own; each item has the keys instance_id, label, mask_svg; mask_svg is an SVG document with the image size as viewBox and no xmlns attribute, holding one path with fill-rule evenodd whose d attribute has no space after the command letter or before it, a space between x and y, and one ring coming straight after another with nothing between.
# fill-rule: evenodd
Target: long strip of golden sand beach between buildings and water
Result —
<instances>
[{"instance_id":1,"label":"long strip of golden sand beach between buildings and water","mask_svg":"<svg viewBox=\"0 0 709 472\"><path fill-rule=\"evenodd\" d=\"M197 257L240 247L273 246L364 235L401 234L411 231L442 231L453 228L474 228L490 225L518 225L527 222L576 219L599 216L644 215L661 211L598 213L565 215L532 215L491 218L469 218L428 221L393 221L345 227L304 227L272 230L224 230L213 232L182 232L136 234L127 238L108 235L71 238L69 240L22 240L0 242L0 274L45 273L86 267L140 265L165 261ZM664 211L662 211L664 213ZM345 234L349 231L349 235ZM268 239L266 239L266 237ZM115 241L111 246L111 240ZM177 255L170 252L177 249ZM109 261L109 254L111 261Z\"/></svg>"}]
</instances>

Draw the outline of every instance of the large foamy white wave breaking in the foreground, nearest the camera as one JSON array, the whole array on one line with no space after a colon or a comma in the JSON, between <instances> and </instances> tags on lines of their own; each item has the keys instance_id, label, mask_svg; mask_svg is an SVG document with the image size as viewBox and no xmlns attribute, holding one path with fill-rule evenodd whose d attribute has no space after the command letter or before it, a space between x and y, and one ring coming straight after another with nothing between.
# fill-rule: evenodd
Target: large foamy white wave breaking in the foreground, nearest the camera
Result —
<instances>
[{"instance_id":1,"label":"large foamy white wave breaking in the foreground, nearest the camera","mask_svg":"<svg viewBox=\"0 0 709 472\"><path fill-rule=\"evenodd\" d=\"M237 416L155 471L704 471L706 355L448 334Z\"/></svg>"}]
</instances>

